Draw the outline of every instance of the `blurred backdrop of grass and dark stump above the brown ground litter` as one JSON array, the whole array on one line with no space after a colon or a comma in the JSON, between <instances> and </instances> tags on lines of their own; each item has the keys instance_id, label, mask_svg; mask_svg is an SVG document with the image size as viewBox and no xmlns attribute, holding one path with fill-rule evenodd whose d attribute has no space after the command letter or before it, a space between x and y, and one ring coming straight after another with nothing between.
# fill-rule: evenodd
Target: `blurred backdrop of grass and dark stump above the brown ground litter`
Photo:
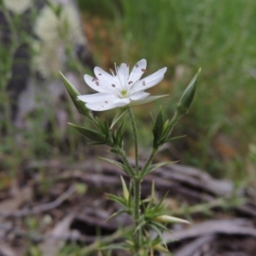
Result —
<instances>
[{"instance_id":1,"label":"blurred backdrop of grass and dark stump above the brown ground litter","mask_svg":"<svg viewBox=\"0 0 256 256\"><path fill-rule=\"evenodd\" d=\"M175 104L201 67L189 114L160 160L179 160L216 178L256 184L256 2L253 0L2 0L0 11L0 189L17 188L34 161L68 164L106 154L67 122L87 125L61 83L81 94L93 67L147 59L148 74L167 67L150 92L169 94L135 108L140 151L152 138L150 113ZM96 113L103 117L105 113ZM111 118L114 111L109 111ZM131 129L127 125L127 137ZM129 155L133 152L127 142ZM49 171L49 170L48 170ZM39 172L44 183L50 173ZM46 185L47 187L47 185ZM1 194L1 195L2 195Z\"/></svg>"}]
</instances>

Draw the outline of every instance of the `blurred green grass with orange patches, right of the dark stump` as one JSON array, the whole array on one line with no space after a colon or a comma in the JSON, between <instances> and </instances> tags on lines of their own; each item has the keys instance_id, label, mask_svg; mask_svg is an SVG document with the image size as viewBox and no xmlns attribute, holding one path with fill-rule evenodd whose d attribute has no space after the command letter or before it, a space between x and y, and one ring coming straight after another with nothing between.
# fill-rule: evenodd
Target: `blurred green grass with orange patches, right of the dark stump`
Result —
<instances>
[{"instance_id":1,"label":"blurred green grass with orange patches, right of the dark stump","mask_svg":"<svg viewBox=\"0 0 256 256\"><path fill-rule=\"evenodd\" d=\"M111 47L116 46L113 61L146 58L149 73L168 67L172 100L162 103L166 115L202 68L195 102L175 130L188 137L174 142L169 153L217 177L246 177L256 125L256 2L80 0L79 6L85 17L100 16L108 23ZM96 45L93 49L104 55Z\"/></svg>"}]
</instances>

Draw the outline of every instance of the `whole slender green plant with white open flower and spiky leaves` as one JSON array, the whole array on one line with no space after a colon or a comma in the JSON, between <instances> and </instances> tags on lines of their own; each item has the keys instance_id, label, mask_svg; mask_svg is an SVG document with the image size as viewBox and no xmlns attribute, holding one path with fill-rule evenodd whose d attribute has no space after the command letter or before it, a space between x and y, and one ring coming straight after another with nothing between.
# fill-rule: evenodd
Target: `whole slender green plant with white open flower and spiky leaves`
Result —
<instances>
[{"instance_id":1,"label":"whole slender green plant with white open flower and spiky leaves","mask_svg":"<svg viewBox=\"0 0 256 256\"><path fill-rule=\"evenodd\" d=\"M112 201L119 203L122 206L122 210L114 212L109 218L113 218L121 213L128 213L133 219L132 229L125 233L125 239L119 244L108 245L102 247L102 249L111 248L123 248L130 251L133 255L154 255L154 251L160 251L167 255L172 255L166 247L166 243L162 237L163 231L168 230L167 224L170 223L184 223L189 222L182 218L175 218L168 215L168 209L164 205L164 199L156 202L154 196L154 183L152 183L152 192L148 200L142 200L141 188L143 178L150 172L160 166L172 164L172 162L161 162L153 164L155 154L157 154L160 147L165 143L170 142L172 129L177 124L184 113L189 111L189 107L194 99L196 85L201 73L201 69L195 74L195 77L191 80L186 90L183 92L180 101L177 103L176 111L172 119L164 119L162 109L156 117L153 117L153 141L151 154L148 155L148 160L141 166L138 157L138 137L137 137L137 125L135 116L132 110L133 106L152 102L160 99L163 96L150 96L147 90L150 87L160 83L166 73L166 67L161 68L157 72L143 78L143 74L146 73L147 61L141 60L132 68L129 73L130 64L122 63L119 67L115 66L115 71L110 69L111 74L106 73L102 68L95 67L95 78L89 75L84 75L86 84L97 92L95 94L83 95L79 94L61 73L61 78L67 88L69 96L71 96L75 107L86 118L90 119L90 122L95 126L95 129L82 127L79 125L72 125L73 128L81 132L85 137L92 140L90 144L108 145L110 151L119 156L121 161L107 160L113 165L119 166L128 177L130 177L130 185L127 187L125 180L121 177L121 183L123 188L122 195L108 195L108 198ZM91 111L105 111L108 109L117 108L117 112L112 120L112 123L108 119L98 119L93 115ZM124 147L124 124L125 115L129 115L131 120L131 128L133 133L134 148L135 148L135 162L131 163L127 159ZM119 125L118 125L119 124Z\"/></svg>"}]
</instances>

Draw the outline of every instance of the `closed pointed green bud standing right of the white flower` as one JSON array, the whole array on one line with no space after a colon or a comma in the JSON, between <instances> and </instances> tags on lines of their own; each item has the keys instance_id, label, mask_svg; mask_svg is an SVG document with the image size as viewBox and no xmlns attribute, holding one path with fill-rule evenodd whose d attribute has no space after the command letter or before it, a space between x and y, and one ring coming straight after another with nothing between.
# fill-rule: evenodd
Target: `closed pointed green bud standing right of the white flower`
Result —
<instances>
[{"instance_id":1,"label":"closed pointed green bud standing right of the white flower","mask_svg":"<svg viewBox=\"0 0 256 256\"><path fill-rule=\"evenodd\" d=\"M183 113L188 113L191 103L193 102L195 96L196 85L198 83L199 75L201 73L201 68L195 74L195 77L190 81L188 87L183 92L183 96L177 103L177 113L179 116Z\"/></svg>"}]
</instances>

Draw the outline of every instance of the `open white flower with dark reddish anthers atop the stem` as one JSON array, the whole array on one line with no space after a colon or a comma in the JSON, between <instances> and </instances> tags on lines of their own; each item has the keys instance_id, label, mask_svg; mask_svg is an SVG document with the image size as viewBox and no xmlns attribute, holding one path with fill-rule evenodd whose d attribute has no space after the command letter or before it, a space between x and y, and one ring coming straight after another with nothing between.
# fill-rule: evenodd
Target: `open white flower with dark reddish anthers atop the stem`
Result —
<instances>
[{"instance_id":1,"label":"open white flower with dark reddish anthers atop the stem","mask_svg":"<svg viewBox=\"0 0 256 256\"><path fill-rule=\"evenodd\" d=\"M147 61L141 60L132 68L129 75L129 64L122 63L120 67L115 67L116 74L110 69L106 73L100 67L95 67L96 78L84 75L86 84L93 90L98 91L95 94L78 96L79 100L85 102L86 108L95 111L104 111L111 108L125 106L135 106L146 102L152 102L162 96L149 96L147 90L158 84L166 73L166 67L141 79L146 72ZM141 79L141 80L140 80Z\"/></svg>"}]
</instances>

